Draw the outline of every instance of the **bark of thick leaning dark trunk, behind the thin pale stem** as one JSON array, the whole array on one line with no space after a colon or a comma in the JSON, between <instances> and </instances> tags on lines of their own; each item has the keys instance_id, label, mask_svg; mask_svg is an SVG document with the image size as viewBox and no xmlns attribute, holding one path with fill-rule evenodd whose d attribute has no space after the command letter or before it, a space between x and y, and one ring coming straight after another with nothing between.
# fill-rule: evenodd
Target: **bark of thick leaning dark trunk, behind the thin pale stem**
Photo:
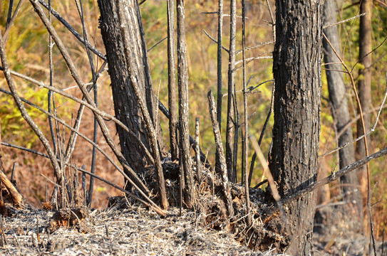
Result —
<instances>
[{"instance_id":1,"label":"bark of thick leaning dark trunk, behind the thin pale stem","mask_svg":"<svg viewBox=\"0 0 387 256\"><path fill-rule=\"evenodd\" d=\"M131 129L150 151L150 135L145 127L145 120L131 82L131 78L137 79L147 102L148 112L153 119L155 100L138 2L127 0L119 4L118 1L98 1L98 4L101 14L100 28L113 91L115 117ZM120 6L125 8L120 9ZM119 11L126 12L125 20L120 19ZM129 38L131 43L128 46L123 45L123 29L127 29L131 36ZM128 48L128 51L125 48ZM126 53L130 53L128 58L125 58ZM123 156L135 171L142 171L147 164L143 149L124 129L117 126L117 131Z\"/></svg>"}]
</instances>

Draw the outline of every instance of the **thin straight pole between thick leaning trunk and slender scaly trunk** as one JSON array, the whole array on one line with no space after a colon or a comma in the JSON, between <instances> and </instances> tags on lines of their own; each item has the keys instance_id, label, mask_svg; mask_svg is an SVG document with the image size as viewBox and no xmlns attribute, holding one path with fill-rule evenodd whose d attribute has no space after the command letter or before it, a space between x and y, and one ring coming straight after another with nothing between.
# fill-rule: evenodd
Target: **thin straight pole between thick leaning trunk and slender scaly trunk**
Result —
<instances>
[{"instance_id":1,"label":"thin straight pole between thick leaning trunk and slender scaly trunk","mask_svg":"<svg viewBox=\"0 0 387 256\"><path fill-rule=\"evenodd\" d=\"M177 110L175 78L175 0L167 0L168 15L168 107L170 109L170 154L172 161L177 160Z\"/></svg>"}]
</instances>

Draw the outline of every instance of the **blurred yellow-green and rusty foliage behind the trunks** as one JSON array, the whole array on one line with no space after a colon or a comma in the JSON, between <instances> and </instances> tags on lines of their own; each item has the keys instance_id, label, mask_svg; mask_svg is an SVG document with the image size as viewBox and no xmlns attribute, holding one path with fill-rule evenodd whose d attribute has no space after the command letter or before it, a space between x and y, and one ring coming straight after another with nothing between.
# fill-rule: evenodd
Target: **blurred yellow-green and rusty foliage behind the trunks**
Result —
<instances>
[{"instance_id":1,"label":"blurred yellow-green and rusty foliage behind the trunks","mask_svg":"<svg viewBox=\"0 0 387 256\"><path fill-rule=\"evenodd\" d=\"M357 1L338 1L339 11L337 12L338 20L344 20L351 18L359 14L359 3ZM386 69L387 66L387 44L384 41L387 38L387 4L383 0L373 1L372 21L373 21L373 33L372 44L373 48L377 48L372 53L373 65L372 71L372 105L371 105L371 126L375 122L378 106L386 91ZM56 9L63 18L68 21L76 30L81 33L82 24L76 11L76 6L73 1L62 0L52 1L53 9ZM238 15L241 15L240 3L238 1L237 11ZM263 0L249 0L247 4L247 28L246 28L246 45L255 46L259 43L272 41L272 26L269 24L270 16L267 9L266 1ZM141 14L143 17L143 24L145 29L145 38L147 41L148 49L158 43L162 38L167 36L167 6L166 1L161 0L148 0L140 6ZM274 1L272 1L274 6ZM215 160L215 143L212 134L212 125L210 122L210 115L208 113L207 104L207 92L210 88L216 92L217 85L217 44L214 43L208 36L206 36L205 30L210 36L216 38L217 35L217 16L215 14L208 14L210 12L217 11L217 1L213 0L186 0L185 1L185 18L187 26L187 49L188 49L188 66L190 75L190 131L194 132L195 117L200 118L200 146L205 154L208 155L209 160L214 164ZM0 29L4 32L4 26L8 15L9 1L0 1ZM90 38L93 38L94 46L98 50L104 52L102 38L100 36L100 29L98 28L98 18L100 16L97 1L89 0L83 1L83 11L85 14L86 27ZM207 13L207 14L205 14ZM225 4L225 13L229 13L229 6ZM223 45L228 46L227 36L229 33L228 18L225 17L223 33L225 35ZM82 75L83 81L91 80L91 70L88 64L88 56L82 43L80 43L74 36L68 32L63 25L53 18L53 26L61 36L63 43L69 49L71 58L76 64L79 73ZM240 20L237 23L237 31L241 31ZM361 76L358 75L361 70L361 65L358 62L358 39L359 39L359 21L354 19L352 21L341 23L339 26L339 35L341 37L341 53L346 65L353 68L353 75L355 81L361 80ZM237 32L237 50L242 48L242 36L240 32ZM254 48L247 51L247 58L256 56L272 56L273 45ZM6 53L9 59L11 70L28 75L36 80L49 83L49 65L48 65L48 32L43 27L38 16L34 13L31 4L25 3L20 11L20 14L16 17L14 26L12 26L9 33L9 39L6 44ZM225 56L227 55L224 52ZM150 68L153 78L153 84L155 88L155 94L159 95L159 99L164 105L167 105L167 41L162 41L158 46L155 46L149 51ZM95 63L98 63L98 67L102 64L102 61L96 57ZM242 54L237 55L237 61L242 59ZM227 67L228 58L223 58L223 66ZM237 66L242 63L237 64ZM66 68L66 64L63 61L60 53L56 47L53 47L53 85L56 88L65 90L68 93L76 97L81 97L81 92L75 87L72 88L75 83L71 78L71 74ZM227 79L227 72L224 68L224 78ZM336 135L334 129L334 120L331 114L331 107L329 105L329 94L326 85L326 76L322 75L322 100L321 100L321 135L320 135L320 154L324 154L331 149L336 148ZM260 59L253 60L247 65L247 77L252 76L248 86L256 86L260 83L272 79L272 59ZM43 109L47 109L48 90L39 88L25 80L20 78L14 78L16 81L16 87L19 90L21 97L26 100L39 105ZM347 95L349 100L349 108L351 112L351 118L356 118L356 100L354 99L353 92L350 87L349 77L344 75L346 85L348 87ZM98 84L99 92L99 108L109 114L114 114L113 101L110 90L110 78L108 73L103 73L103 77L100 78ZM8 90L6 80L1 73L0 88ZM227 86L224 87L223 93L227 92ZM242 110L242 69L236 73L236 90L237 100L240 104L240 110ZM248 107L249 113L252 114L249 119L250 133L257 137L262 130L264 120L269 112L270 100L272 97L272 82L264 83L254 90L254 94L249 95ZM28 124L24 122L19 110L14 104L14 100L11 96L2 92L0 96L0 124L1 124L1 137L2 142L9 144L15 144L24 146L36 151L44 151L43 146L37 139L36 135L29 129ZM76 116L78 110L78 104L67 100L61 95L55 95L56 111L58 116L65 120L68 124L72 123L72 120ZM224 98L225 99L225 98ZM223 100L223 112L222 116L225 117L226 102ZM29 114L42 131L48 135L48 119L45 114L38 112L26 105ZM242 120L242 111L240 111ZM162 113L159 113L161 118L161 125L163 138L166 140L165 144L168 145L168 129L167 119ZM225 120L225 119L224 119ZM262 151L267 156L269 146L272 138L272 124L274 120L270 119L267 132L262 141ZM115 134L115 125L113 122L107 122L111 134ZM93 137L93 114L90 110L85 110L83 122L81 124L80 131L86 134L89 138ZM224 129L225 125L222 125ZM352 124L354 134L356 134L356 122ZM387 113L382 112L375 132L373 132L368 141L370 154L383 149L387 146ZM222 131L224 132L224 131ZM64 130L65 140L68 139L69 132ZM49 137L49 136L48 136ZM116 142L118 143L118 135L115 135ZM98 144L108 150L107 144L104 139L99 135ZM21 194L25 197L26 202L38 208L41 207L41 203L46 201L46 176L53 179L53 171L50 161L41 156L36 156L29 152L21 151L19 149L12 149L8 146L2 146L3 150L3 163L6 174L10 176L12 166L16 162L16 181ZM242 150L239 150L241 152ZM77 166L86 166L86 170L91 168L91 154L92 146L79 138L72 156L73 164ZM251 158L251 156L250 156ZM338 164L338 153L330 154L328 156L321 157L319 159L319 169L321 176L326 176L331 173L335 166ZM386 164L385 158L376 159L371 161L371 183L372 183L372 210L373 221L375 225L375 233L378 238L383 235L387 225L387 176L386 176ZM240 165L240 164L239 164ZM99 152L97 153L96 162L96 174L103 178L112 181L113 183L123 186L123 178L118 172L114 171L114 167L108 163ZM240 170L240 166L239 166ZM43 175L41 175L43 174ZM239 174L240 175L240 174ZM255 186L262 178L262 166L259 161L255 164L254 173L252 176L252 186ZM240 177L238 181L240 181ZM51 191L52 184L47 182ZM108 196L115 196L119 192L109 187L105 183L96 181L93 195L93 208L105 208ZM329 184L329 202L320 203L335 203L339 201L339 181ZM366 198L366 195L363 195ZM365 200L365 199L364 199Z\"/></svg>"}]
</instances>

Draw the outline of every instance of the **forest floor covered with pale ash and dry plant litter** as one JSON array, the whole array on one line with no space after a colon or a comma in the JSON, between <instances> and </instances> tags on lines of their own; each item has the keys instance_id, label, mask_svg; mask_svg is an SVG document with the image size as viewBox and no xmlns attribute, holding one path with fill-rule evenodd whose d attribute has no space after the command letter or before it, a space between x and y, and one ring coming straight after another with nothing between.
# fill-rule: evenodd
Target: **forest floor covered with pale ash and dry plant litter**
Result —
<instances>
[{"instance_id":1,"label":"forest floor covered with pale ash and dry plant litter","mask_svg":"<svg viewBox=\"0 0 387 256\"><path fill-rule=\"evenodd\" d=\"M197 213L183 210L180 217L177 208L160 218L143 206L118 204L91 210L72 228L70 221L55 220L54 210L9 209L0 221L0 255L277 255L253 252L231 233L203 227ZM369 247L362 235L315 234L314 250L315 255L368 255ZM378 250L382 255L381 243Z\"/></svg>"}]
</instances>

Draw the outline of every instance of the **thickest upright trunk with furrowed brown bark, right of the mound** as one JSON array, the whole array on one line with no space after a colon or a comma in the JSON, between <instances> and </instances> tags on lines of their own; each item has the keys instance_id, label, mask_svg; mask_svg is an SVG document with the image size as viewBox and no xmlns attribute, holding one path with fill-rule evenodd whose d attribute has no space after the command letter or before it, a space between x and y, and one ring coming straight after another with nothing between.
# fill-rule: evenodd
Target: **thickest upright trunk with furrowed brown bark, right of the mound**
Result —
<instances>
[{"instance_id":1,"label":"thickest upright trunk with furrowed brown bark, right of the mound","mask_svg":"<svg viewBox=\"0 0 387 256\"><path fill-rule=\"evenodd\" d=\"M323 1L276 1L274 127L269 167L279 195L290 196L316 181L320 133ZM313 254L315 196L284 209L286 253Z\"/></svg>"}]
</instances>

